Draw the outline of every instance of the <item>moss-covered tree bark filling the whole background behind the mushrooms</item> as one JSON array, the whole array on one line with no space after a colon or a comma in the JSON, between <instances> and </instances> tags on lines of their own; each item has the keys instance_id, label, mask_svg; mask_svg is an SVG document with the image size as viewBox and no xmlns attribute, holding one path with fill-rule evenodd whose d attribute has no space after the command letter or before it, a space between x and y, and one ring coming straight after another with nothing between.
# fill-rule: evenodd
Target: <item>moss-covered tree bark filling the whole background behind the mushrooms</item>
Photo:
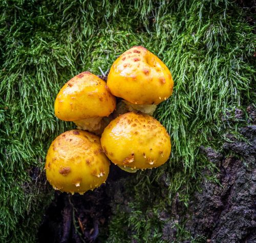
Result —
<instances>
[{"instance_id":1,"label":"moss-covered tree bark filling the whole background behind the mushrooms","mask_svg":"<svg viewBox=\"0 0 256 243\"><path fill-rule=\"evenodd\" d=\"M253 3L1 1L0 241L43 240L44 227L52 236L57 232L56 240L76 242L224 240L224 234L214 234L222 225L228 227L225 210L243 216L239 208L233 210L239 198L236 188L242 185L232 178L240 175L249 190L248 204L241 200L244 209L253 199L253 178L248 180L251 172L246 171L251 161L238 150L231 153L228 135L248 140L241 128L248 129L247 120L255 112L253 105L247 109L256 99ZM56 192L54 199L44 179L45 156L54 137L74 128L54 116L60 87L85 70L106 72L134 45L148 48L172 72L174 93L154 114L170 134L172 157L157 169L127 177L115 168L102 188L71 198ZM200 147L212 148L221 159L206 159ZM207 188L212 203L206 193L196 193ZM196 204L216 216L218 224L211 226L210 217L204 221L202 209L197 215ZM244 215L246 224L226 228L236 229L234 241L253 238L253 220ZM200 226L191 223L193 218Z\"/></svg>"}]
</instances>

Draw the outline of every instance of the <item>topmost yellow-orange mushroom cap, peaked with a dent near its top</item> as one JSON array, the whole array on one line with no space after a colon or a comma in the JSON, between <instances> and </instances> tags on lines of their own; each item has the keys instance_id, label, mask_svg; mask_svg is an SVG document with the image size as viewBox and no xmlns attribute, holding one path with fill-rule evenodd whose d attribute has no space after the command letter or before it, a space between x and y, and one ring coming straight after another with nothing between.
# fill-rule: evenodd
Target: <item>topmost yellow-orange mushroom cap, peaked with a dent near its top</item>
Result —
<instances>
[{"instance_id":1,"label":"topmost yellow-orange mushroom cap, peaked with a dent near its top","mask_svg":"<svg viewBox=\"0 0 256 243\"><path fill-rule=\"evenodd\" d=\"M142 46L132 47L113 63L106 83L113 95L138 105L161 103L174 86L166 65Z\"/></svg>"}]
</instances>

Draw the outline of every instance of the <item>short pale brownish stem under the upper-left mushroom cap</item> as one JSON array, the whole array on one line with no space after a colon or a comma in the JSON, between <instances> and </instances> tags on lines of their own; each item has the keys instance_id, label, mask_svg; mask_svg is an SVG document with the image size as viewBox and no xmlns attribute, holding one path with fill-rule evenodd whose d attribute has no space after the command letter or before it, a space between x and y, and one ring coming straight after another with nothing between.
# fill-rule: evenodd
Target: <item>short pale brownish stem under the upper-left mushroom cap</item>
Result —
<instances>
[{"instance_id":1,"label":"short pale brownish stem under the upper-left mushroom cap","mask_svg":"<svg viewBox=\"0 0 256 243\"><path fill-rule=\"evenodd\" d=\"M106 125L108 125L108 123L105 122L105 119L102 118L103 117L93 117L82 120L75 120L74 123L78 129L101 134Z\"/></svg>"}]
</instances>

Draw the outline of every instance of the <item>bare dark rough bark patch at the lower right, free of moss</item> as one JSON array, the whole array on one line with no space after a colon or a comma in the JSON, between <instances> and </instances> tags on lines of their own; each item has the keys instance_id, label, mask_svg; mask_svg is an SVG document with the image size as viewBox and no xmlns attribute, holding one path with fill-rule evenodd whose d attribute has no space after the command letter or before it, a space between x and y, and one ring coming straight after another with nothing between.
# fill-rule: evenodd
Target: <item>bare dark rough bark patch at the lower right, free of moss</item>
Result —
<instances>
[{"instance_id":1,"label":"bare dark rough bark patch at the lower right, free of moss","mask_svg":"<svg viewBox=\"0 0 256 243\"><path fill-rule=\"evenodd\" d=\"M224 157L211 148L202 148L217 163L221 185L204 179L190 205L192 218L187 230L204 235L209 242L255 242L256 231L256 126L240 129L247 141L229 136L223 145L234 156ZM207 174L207 172L206 172Z\"/></svg>"}]
</instances>

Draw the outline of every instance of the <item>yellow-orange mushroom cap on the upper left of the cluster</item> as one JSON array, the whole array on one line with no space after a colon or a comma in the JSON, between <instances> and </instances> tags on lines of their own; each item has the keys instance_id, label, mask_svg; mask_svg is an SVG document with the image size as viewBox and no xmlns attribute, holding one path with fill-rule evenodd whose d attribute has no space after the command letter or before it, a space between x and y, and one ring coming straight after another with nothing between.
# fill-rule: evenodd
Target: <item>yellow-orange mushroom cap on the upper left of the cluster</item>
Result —
<instances>
[{"instance_id":1,"label":"yellow-orange mushroom cap on the upper left of the cluster","mask_svg":"<svg viewBox=\"0 0 256 243\"><path fill-rule=\"evenodd\" d=\"M68 81L55 100L55 115L66 121L109 116L116 99L106 83L91 72L82 72Z\"/></svg>"}]
</instances>

